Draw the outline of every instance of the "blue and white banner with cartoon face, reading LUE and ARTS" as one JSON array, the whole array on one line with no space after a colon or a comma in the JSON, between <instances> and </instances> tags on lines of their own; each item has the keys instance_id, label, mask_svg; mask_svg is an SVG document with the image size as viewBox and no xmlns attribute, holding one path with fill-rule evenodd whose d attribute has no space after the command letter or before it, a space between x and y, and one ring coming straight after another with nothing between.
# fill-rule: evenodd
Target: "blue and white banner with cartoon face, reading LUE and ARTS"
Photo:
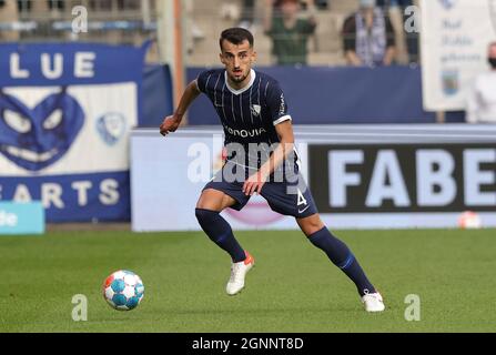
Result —
<instances>
[{"instance_id":1,"label":"blue and white banner with cartoon face, reading LUE and ARTS","mask_svg":"<svg viewBox=\"0 0 496 355\"><path fill-rule=\"evenodd\" d=\"M142 48L0 44L0 201L49 222L128 221Z\"/></svg>"}]
</instances>

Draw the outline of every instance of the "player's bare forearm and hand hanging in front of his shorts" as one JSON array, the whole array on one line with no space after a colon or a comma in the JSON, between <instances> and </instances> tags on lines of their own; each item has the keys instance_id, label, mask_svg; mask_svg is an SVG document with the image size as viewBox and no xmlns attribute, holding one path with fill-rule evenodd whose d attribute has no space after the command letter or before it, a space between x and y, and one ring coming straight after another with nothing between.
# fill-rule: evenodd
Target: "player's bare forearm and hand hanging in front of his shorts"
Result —
<instances>
[{"instance_id":1,"label":"player's bare forearm and hand hanging in front of his shorts","mask_svg":"<svg viewBox=\"0 0 496 355\"><path fill-rule=\"evenodd\" d=\"M293 152L294 133L291 120L276 124L275 131L277 132L280 144L277 144L277 148L271 154L271 158L260 168L260 170L244 182L243 192L246 195L253 195L255 192L260 194L269 176Z\"/></svg>"}]
</instances>

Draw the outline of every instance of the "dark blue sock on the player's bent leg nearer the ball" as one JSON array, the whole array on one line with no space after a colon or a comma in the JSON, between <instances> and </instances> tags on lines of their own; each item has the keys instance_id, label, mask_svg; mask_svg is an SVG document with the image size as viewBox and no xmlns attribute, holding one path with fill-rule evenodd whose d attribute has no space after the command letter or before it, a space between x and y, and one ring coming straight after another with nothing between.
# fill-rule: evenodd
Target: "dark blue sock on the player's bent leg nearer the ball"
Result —
<instances>
[{"instance_id":1,"label":"dark blue sock on the player's bent leg nearer the ball","mask_svg":"<svg viewBox=\"0 0 496 355\"><path fill-rule=\"evenodd\" d=\"M231 255L233 263L239 263L246 258L244 250L234 237L231 225L219 212L196 209L195 214L206 235Z\"/></svg>"}]
</instances>

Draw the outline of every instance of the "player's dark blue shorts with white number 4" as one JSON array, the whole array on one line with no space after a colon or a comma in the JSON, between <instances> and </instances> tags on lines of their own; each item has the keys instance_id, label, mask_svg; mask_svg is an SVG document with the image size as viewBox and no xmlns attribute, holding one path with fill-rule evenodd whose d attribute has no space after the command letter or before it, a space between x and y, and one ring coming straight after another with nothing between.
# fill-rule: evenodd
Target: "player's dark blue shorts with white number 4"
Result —
<instances>
[{"instance_id":1,"label":"player's dark blue shorts with white number 4","mask_svg":"<svg viewBox=\"0 0 496 355\"><path fill-rule=\"evenodd\" d=\"M226 162L203 191L207 189L222 191L235 200L231 209L241 211L250 200L250 196L243 193L243 183L255 172L256 170ZM237 175L239 179L233 179L233 175ZM263 185L261 195L267 201L272 211L283 215L303 219L317 213L312 193L297 166L291 172L272 174Z\"/></svg>"}]
</instances>

